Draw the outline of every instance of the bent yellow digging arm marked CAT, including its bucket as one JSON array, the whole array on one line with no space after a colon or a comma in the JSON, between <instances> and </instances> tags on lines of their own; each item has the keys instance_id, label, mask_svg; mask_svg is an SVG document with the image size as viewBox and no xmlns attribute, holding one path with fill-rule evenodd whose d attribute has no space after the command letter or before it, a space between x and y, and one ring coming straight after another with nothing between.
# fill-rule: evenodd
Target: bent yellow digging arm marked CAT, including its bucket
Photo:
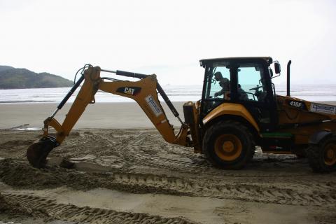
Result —
<instances>
[{"instance_id":1,"label":"bent yellow digging arm marked CAT, including its bucket","mask_svg":"<svg viewBox=\"0 0 336 224\"><path fill-rule=\"evenodd\" d=\"M139 78L140 80L134 82L129 80L118 80L115 78L102 78L100 76L101 71L116 73L118 76ZM66 101L81 83L83 83L83 85L80 87L78 95L61 125L54 117L57 111L62 109L62 106L64 106ZM29 146L27 150L27 159L32 166L38 168L45 166L46 158L50 151L62 144L62 141L69 135L73 126L85 111L86 106L94 103L94 94L96 94L98 90L134 99L146 113L146 116L148 116L165 141L170 144L192 146L190 139L188 138L188 125L183 123L181 118L179 118L179 113L174 108L172 102L170 102L167 94L162 90L155 75L144 75L127 71L109 71L100 69L99 66L87 66L85 70L83 69L82 76L57 106L56 111L52 113L52 116L45 119L43 137ZM181 129L178 134L174 133L174 128L167 119L165 111L158 99L158 92L165 100L169 109L172 110L174 116L181 122ZM48 134L49 127L53 127L56 130L56 137L52 137Z\"/></svg>"}]
</instances>

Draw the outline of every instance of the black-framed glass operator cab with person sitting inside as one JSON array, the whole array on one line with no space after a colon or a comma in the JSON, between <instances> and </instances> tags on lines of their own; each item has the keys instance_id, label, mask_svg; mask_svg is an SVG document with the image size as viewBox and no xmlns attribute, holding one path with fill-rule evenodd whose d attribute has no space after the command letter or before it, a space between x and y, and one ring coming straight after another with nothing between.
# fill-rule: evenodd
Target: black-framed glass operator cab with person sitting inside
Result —
<instances>
[{"instance_id":1,"label":"black-framed glass operator cab with person sitting inside","mask_svg":"<svg viewBox=\"0 0 336 224\"><path fill-rule=\"evenodd\" d=\"M205 69L200 119L221 104L241 104L260 131L274 130L277 120L273 72L269 68L272 62L271 57L200 60Z\"/></svg>"}]
</instances>

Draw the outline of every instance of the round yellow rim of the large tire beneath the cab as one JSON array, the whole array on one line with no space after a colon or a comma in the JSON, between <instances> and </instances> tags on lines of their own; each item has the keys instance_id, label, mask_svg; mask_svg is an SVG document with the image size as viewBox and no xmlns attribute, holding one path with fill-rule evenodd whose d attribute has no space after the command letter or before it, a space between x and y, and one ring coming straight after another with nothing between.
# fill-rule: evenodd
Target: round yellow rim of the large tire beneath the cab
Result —
<instances>
[{"instance_id":1,"label":"round yellow rim of the large tire beneath the cab","mask_svg":"<svg viewBox=\"0 0 336 224\"><path fill-rule=\"evenodd\" d=\"M222 160L236 160L241 151L241 141L233 134L222 134L215 141L215 153Z\"/></svg>"}]
</instances>

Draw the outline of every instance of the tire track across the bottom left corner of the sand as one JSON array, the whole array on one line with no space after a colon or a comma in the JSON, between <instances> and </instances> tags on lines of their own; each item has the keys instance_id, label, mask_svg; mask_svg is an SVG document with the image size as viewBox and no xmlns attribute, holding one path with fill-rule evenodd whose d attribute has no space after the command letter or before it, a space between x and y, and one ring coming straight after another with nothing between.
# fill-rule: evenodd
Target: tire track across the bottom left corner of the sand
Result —
<instances>
[{"instance_id":1,"label":"tire track across the bottom left corner of the sand","mask_svg":"<svg viewBox=\"0 0 336 224\"><path fill-rule=\"evenodd\" d=\"M81 223L161 223L161 224L189 224L193 223L184 218L164 218L142 213L130 213L109 209L97 209L91 207L77 207L73 204L57 204L55 200L43 197L22 195L15 193L1 193L8 203L19 204L29 211L38 211L47 217L64 221Z\"/></svg>"}]
</instances>

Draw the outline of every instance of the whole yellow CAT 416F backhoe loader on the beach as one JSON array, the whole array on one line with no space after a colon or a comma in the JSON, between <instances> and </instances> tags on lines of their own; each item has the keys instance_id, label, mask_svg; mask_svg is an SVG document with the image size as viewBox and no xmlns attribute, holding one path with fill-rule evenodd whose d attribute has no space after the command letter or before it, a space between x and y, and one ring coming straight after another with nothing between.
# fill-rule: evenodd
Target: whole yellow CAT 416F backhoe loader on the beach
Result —
<instances>
[{"instance_id":1,"label":"whole yellow CAT 416F backhoe loader on the beach","mask_svg":"<svg viewBox=\"0 0 336 224\"><path fill-rule=\"evenodd\" d=\"M263 153L307 156L315 172L336 169L336 106L307 102L290 97L290 61L287 65L287 95L275 92L272 83L280 64L271 57L228 57L202 59L204 85L202 99L183 105L185 121L169 101L155 75L109 71L86 65L81 76L52 116L45 119L43 137L29 146L27 158L32 166L44 167L48 153L62 144L87 104L94 103L98 90L134 99L162 137L170 144L193 147L204 153L216 167L240 169L253 158L255 146ZM138 81L101 77L101 73L139 78ZM80 91L59 124L54 116L80 84ZM158 94L181 122L178 133L169 123ZM51 137L49 127L57 134Z\"/></svg>"}]
</instances>

